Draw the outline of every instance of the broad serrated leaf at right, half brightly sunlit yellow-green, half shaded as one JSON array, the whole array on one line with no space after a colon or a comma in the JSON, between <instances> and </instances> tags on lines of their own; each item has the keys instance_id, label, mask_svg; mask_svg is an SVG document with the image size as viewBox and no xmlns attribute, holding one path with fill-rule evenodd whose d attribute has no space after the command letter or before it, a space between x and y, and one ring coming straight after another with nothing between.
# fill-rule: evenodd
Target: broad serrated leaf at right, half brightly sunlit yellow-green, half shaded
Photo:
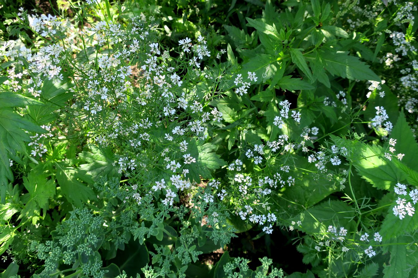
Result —
<instances>
[{"instance_id":1,"label":"broad serrated leaf at right, half brightly sunlit yellow-green, half shaded","mask_svg":"<svg viewBox=\"0 0 418 278\"><path fill-rule=\"evenodd\" d=\"M353 161L353 166L362 178L378 189L389 190L394 183L405 179L403 173L383 157L383 149L377 145L361 143L362 158Z\"/></svg>"}]
</instances>

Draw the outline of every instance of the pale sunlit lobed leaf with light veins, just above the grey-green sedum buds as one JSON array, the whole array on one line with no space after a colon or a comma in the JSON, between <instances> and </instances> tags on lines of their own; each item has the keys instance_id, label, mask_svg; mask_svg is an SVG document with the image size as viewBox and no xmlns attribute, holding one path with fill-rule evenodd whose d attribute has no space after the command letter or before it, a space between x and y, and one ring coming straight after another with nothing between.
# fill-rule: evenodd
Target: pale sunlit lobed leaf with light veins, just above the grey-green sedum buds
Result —
<instances>
[{"instance_id":1,"label":"pale sunlit lobed leaf with light veins, just above the grey-green sedum buds","mask_svg":"<svg viewBox=\"0 0 418 278\"><path fill-rule=\"evenodd\" d=\"M89 145L87 147L91 149L91 152L83 151L78 155L79 159L87 162L86 164L80 165L80 170L86 171L93 179L101 176L114 177L117 175L116 167L112 166L113 153L110 149L95 145Z\"/></svg>"}]
</instances>

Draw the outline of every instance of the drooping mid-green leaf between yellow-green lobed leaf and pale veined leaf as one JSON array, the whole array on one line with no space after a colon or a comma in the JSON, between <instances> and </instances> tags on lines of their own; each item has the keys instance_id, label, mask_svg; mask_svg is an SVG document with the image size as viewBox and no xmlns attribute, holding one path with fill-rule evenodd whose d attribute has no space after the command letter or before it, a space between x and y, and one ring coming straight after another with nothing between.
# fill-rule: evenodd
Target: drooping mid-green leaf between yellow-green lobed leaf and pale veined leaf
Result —
<instances>
[{"instance_id":1,"label":"drooping mid-green leaf between yellow-green lobed leaf and pale veined leaf","mask_svg":"<svg viewBox=\"0 0 418 278\"><path fill-rule=\"evenodd\" d=\"M56 166L56 180L66 199L76 207L82 207L88 200L96 200L94 191L81 181L93 183L86 171L67 166L64 162L54 162Z\"/></svg>"}]
</instances>

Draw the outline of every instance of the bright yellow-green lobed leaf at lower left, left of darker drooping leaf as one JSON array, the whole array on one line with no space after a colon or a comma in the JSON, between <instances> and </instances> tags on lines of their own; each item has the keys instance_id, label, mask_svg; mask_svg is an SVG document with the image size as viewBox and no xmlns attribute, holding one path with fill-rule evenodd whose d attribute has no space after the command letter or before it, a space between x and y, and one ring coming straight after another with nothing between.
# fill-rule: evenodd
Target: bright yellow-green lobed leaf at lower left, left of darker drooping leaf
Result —
<instances>
[{"instance_id":1,"label":"bright yellow-green lobed leaf at lower left, left of darker drooping leaf","mask_svg":"<svg viewBox=\"0 0 418 278\"><path fill-rule=\"evenodd\" d=\"M27 177L23 177L23 185L28 190L28 201L20 213L19 219L23 216L33 217L33 225L39 220L40 209L47 209L49 199L55 195L55 183L52 179L46 179L45 174L31 171ZM26 196L24 196L26 197ZM23 200L25 198L22 198Z\"/></svg>"}]
</instances>

